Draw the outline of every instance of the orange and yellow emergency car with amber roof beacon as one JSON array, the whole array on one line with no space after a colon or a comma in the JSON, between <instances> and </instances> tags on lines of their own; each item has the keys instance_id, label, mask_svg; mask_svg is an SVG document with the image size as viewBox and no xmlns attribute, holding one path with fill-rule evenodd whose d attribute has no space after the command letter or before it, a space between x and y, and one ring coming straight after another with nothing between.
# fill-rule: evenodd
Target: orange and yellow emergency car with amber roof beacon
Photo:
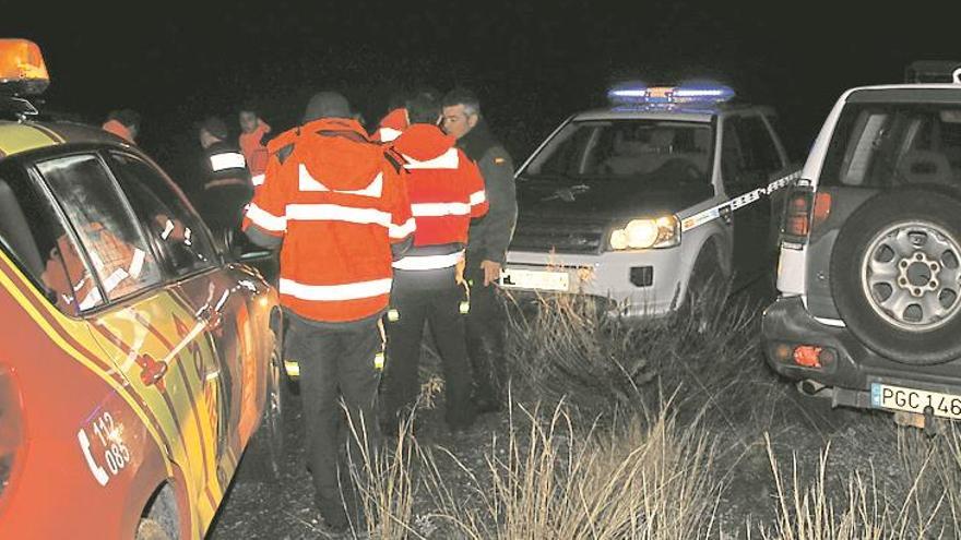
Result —
<instances>
[{"instance_id":1,"label":"orange and yellow emergency car with amber roof beacon","mask_svg":"<svg viewBox=\"0 0 961 540\"><path fill-rule=\"evenodd\" d=\"M0 538L203 538L245 451L278 471L276 291L47 82L0 39Z\"/></svg>"}]
</instances>

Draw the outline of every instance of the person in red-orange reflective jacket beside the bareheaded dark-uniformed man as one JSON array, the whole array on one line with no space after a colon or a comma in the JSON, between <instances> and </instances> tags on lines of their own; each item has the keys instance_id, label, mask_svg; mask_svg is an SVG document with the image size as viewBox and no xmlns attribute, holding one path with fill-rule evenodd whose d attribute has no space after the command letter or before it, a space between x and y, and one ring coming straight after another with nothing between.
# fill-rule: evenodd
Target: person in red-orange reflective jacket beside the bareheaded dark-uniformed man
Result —
<instances>
[{"instance_id":1,"label":"person in red-orange reflective jacket beside the bareheaded dark-uniformed man","mask_svg":"<svg viewBox=\"0 0 961 540\"><path fill-rule=\"evenodd\" d=\"M393 263L392 316L388 327L387 422L396 422L417 397L424 325L440 352L447 396L446 419L452 431L468 429L476 417L461 301L462 269L471 219L487 213L480 170L455 139L437 127L439 100L422 94L407 101L411 127L392 143L404 160L414 247Z\"/></svg>"}]
</instances>

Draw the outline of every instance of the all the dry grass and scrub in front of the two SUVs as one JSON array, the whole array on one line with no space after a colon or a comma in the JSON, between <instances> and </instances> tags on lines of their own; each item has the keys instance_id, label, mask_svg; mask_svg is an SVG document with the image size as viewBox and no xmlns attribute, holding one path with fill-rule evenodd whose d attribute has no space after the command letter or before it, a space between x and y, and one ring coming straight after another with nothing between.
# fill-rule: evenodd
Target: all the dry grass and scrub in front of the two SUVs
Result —
<instances>
[{"instance_id":1,"label":"all the dry grass and scrub in front of the two SUVs","mask_svg":"<svg viewBox=\"0 0 961 540\"><path fill-rule=\"evenodd\" d=\"M723 301L699 302L704 316L648 326L608 317L578 296L545 296L535 313L513 312L513 387L532 405L511 408L508 432L494 435L479 466L403 431L357 479L370 537L729 538L719 505L732 475L717 466L728 454L732 467L740 463L729 428L760 429L775 423L779 407L798 416L804 405L783 399L785 386L760 371L754 308L719 310ZM438 389L426 385L420 405L432 406ZM662 405L665 393L673 397ZM693 412L679 417L681 409ZM722 439L728 447L719 447ZM767 449L774 519L747 524L740 538L961 533L961 432L951 427L935 439L899 433L893 472L844 470L829 459L830 445L816 464L794 458L784 470L767 435L743 446L760 461ZM758 478L766 470L760 463Z\"/></svg>"}]
</instances>

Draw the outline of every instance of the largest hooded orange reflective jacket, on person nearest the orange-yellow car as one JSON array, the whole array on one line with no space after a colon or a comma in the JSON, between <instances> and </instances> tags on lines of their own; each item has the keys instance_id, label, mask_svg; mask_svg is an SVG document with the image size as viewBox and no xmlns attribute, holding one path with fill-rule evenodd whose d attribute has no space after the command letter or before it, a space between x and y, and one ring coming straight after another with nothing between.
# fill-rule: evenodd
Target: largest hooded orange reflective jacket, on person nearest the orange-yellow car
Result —
<instances>
[{"instance_id":1,"label":"largest hooded orange reflective jacket, on person nearest the orange-yellow car","mask_svg":"<svg viewBox=\"0 0 961 540\"><path fill-rule=\"evenodd\" d=\"M266 182L244 228L282 239L282 304L325 323L378 315L391 290L391 245L415 229L401 169L353 120L317 120L268 148Z\"/></svg>"}]
</instances>

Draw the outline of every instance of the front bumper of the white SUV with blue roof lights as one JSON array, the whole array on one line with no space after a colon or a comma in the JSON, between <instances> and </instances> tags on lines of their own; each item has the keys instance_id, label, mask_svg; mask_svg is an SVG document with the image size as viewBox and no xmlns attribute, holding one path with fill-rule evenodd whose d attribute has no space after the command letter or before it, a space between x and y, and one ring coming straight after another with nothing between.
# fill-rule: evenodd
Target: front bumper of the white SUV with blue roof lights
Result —
<instances>
[{"instance_id":1,"label":"front bumper of the white SUV with blue roof lights","mask_svg":"<svg viewBox=\"0 0 961 540\"><path fill-rule=\"evenodd\" d=\"M596 255L511 251L505 268L508 274L511 269L566 273L568 286L559 292L608 300L618 314L630 317L671 313L683 298L690 272L681 264L677 248ZM522 293L546 292L533 287L502 287Z\"/></svg>"}]
</instances>

